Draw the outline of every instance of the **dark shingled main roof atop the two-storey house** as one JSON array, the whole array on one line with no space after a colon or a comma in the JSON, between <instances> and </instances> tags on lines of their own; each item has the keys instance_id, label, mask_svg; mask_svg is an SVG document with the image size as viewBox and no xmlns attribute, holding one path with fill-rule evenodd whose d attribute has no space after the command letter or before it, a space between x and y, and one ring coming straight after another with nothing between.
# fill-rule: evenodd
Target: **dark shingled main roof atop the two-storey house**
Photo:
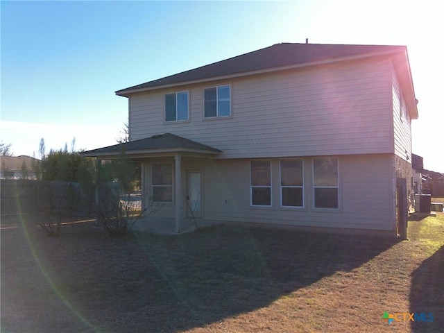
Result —
<instances>
[{"instance_id":1,"label":"dark shingled main roof atop the two-storey house","mask_svg":"<svg viewBox=\"0 0 444 333\"><path fill-rule=\"evenodd\" d=\"M121 89L116 94L128 96L128 94L133 92L169 85L201 82L209 79L239 76L241 74L246 75L257 71L314 65L320 62L346 60L348 58L363 58L378 54L405 52L406 50L406 46L281 43L179 74L142 83L141 85Z\"/></svg>"}]
</instances>

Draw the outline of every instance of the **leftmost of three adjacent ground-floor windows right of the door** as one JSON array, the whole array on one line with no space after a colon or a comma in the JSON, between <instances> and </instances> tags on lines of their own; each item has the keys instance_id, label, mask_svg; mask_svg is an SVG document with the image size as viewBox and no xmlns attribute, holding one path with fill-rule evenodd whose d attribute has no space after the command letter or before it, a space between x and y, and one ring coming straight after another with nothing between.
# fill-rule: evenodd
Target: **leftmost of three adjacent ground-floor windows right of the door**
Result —
<instances>
[{"instance_id":1,"label":"leftmost of three adjacent ground-floor windows right of the door","mask_svg":"<svg viewBox=\"0 0 444 333\"><path fill-rule=\"evenodd\" d=\"M250 203L271 206L271 162L250 161Z\"/></svg>"}]
</instances>

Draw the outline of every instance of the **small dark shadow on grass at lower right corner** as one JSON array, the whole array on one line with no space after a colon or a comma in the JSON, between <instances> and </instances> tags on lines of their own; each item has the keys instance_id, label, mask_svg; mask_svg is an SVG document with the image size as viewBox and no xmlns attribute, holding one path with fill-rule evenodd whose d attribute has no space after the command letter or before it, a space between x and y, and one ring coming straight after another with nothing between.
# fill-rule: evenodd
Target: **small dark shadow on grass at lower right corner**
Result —
<instances>
[{"instance_id":1,"label":"small dark shadow on grass at lower right corner","mask_svg":"<svg viewBox=\"0 0 444 333\"><path fill-rule=\"evenodd\" d=\"M442 332L444 327L444 246L412 273L410 313L424 313L432 322L411 322L412 332Z\"/></svg>"}]
</instances>

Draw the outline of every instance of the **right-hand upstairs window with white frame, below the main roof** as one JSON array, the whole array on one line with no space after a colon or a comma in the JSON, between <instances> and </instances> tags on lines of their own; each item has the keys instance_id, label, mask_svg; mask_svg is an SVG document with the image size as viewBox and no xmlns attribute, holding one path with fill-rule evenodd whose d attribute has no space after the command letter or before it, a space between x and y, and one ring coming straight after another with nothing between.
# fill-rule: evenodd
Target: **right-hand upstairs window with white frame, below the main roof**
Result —
<instances>
[{"instance_id":1,"label":"right-hand upstairs window with white frame, below the main roof","mask_svg":"<svg viewBox=\"0 0 444 333\"><path fill-rule=\"evenodd\" d=\"M205 118L230 117L230 86L203 89Z\"/></svg>"}]
</instances>

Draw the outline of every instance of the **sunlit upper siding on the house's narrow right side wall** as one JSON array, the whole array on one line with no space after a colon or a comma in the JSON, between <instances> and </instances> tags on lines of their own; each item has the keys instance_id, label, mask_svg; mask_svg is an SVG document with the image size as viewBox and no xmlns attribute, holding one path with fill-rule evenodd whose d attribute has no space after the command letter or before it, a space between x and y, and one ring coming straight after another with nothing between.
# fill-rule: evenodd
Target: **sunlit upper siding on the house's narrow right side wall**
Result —
<instances>
[{"instance_id":1,"label":"sunlit upper siding on the house's narrow right side wall","mask_svg":"<svg viewBox=\"0 0 444 333\"><path fill-rule=\"evenodd\" d=\"M402 89L392 69L393 139L395 155L404 160L411 158L411 118L404 101Z\"/></svg>"}]
</instances>

